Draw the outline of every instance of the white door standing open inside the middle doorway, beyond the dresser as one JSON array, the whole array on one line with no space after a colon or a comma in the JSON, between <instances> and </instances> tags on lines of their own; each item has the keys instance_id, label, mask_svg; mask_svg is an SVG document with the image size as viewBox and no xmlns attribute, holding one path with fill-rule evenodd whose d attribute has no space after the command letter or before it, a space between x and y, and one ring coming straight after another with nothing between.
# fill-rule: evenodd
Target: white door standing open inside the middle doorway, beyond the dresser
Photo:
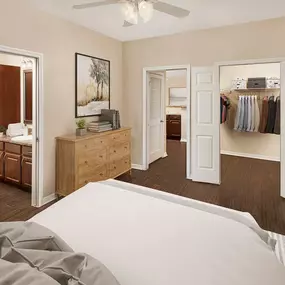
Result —
<instances>
[{"instance_id":1,"label":"white door standing open inside the middle doorway, beyond the dresser","mask_svg":"<svg viewBox=\"0 0 285 285\"><path fill-rule=\"evenodd\" d=\"M164 155L164 76L148 73L148 164Z\"/></svg>"}]
</instances>

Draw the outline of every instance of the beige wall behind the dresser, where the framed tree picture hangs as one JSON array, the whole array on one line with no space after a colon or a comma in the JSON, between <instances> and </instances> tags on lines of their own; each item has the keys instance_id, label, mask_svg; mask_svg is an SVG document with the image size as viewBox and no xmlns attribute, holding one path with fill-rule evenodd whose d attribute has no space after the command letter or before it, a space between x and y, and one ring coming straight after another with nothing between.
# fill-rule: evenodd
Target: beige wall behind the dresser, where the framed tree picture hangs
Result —
<instances>
[{"instance_id":1,"label":"beige wall behind the dresser, where the framed tree picture hangs","mask_svg":"<svg viewBox=\"0 0 285 285\"><path fill-rule=\"evenodd\" d=\"M111 61L111 107L122 110L122 43L35 10L28 1L0 0L0 7L0 45L44 55L44 196L48 196L55 190L55 137L75 131L74 53Z\"/></svg>"}]
</instances>

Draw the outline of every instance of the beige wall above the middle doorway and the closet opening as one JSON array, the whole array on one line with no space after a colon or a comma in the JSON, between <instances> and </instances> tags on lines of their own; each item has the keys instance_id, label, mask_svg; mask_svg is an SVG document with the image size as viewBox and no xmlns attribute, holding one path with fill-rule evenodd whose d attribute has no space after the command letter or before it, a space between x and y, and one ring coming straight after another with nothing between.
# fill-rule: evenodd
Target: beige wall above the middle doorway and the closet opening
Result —
<instances>
[{"instance_id":1,"label":"beige wall above the middle doorway and the closet opening","mask_svg":"<svg viewBox=\"0 0 285 285\"><path fill-rule=\"evenodd\" d=\"M133 163L142 163L143 67L285 57L285 18L124 43L124 112L133 128Z\"/></svg>"}]
</instances>

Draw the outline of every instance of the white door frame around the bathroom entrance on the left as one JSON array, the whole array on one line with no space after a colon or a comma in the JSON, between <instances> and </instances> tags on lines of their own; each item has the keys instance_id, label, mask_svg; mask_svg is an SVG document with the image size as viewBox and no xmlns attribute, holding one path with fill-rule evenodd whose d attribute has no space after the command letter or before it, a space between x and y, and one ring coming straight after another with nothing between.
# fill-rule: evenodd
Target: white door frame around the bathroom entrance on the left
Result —
<instances>
[{"instance_id":1,"label":"white door frame around the bathroom entrance on the left","mask_svg":"<svg viewBox=\"0 0 285 285\"><path fill-rule=\"evenodd\" d=\"M44 173L44 92L43 92L43 54L0 45L0 53L30 57L34 59L33 73L33 158L32 158L32 199L31 205L41 207L43 203Z\"/></svg>"}]
</instances>

